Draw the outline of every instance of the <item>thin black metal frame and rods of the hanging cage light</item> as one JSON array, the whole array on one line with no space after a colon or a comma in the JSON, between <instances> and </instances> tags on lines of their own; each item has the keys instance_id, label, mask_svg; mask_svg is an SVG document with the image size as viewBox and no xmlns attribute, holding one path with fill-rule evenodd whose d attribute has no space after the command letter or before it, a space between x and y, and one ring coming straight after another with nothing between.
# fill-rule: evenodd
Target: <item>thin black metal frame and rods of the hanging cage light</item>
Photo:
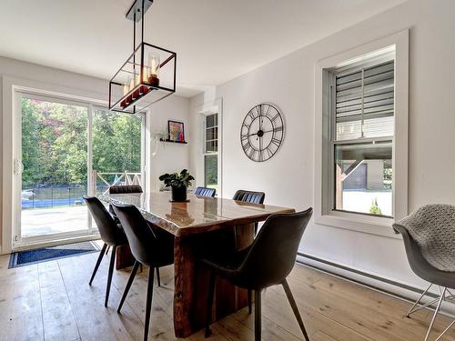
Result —
<instances>
[{"instance_id":1,"label":"thin black metal frame and rods of the hanging cage light","mask_svg":"<svg viewBox=\"0 0 455 341\"><path fill-rule=\"evenodd\" d=\"M138 3L142 3L142 4L138 5ZM151 45L151 44L144 42L144 15L152 3L153 3L153 0L135 0L133 2L133 5L131 5L130 9L126 13L126 19L133 20L133 53L131 55L129 55L129 57L126 59L126 62L118 69L116 74L109 81L109 110L121 112L121 113L136 114L136 112L145 109L148 105L156 103L156 102L166 98L168 95L172 95L176 92L177 54L173 51L167 50L167 49L159 47L157 45ZM140 17L138 17L136 15L136 12L141 13ZM138 20L141 20L141 42L139 45L136 46L136 21L138 21ZM144 81L143 81L143 79L144 79L143 78L143 76L144 76L144 50L145 50L146 46L155 48L157 50L160 50L160 51L163 51L163 52L166 52L167 54L169 54L167 59L159 65L159 68L162 68L164 65L167 65L167 63L169 63L171 61L174 62L174 75L173 75L174 80L173 80L172 87L159 86L159 85L148 85L148 84L144 83ZM139 50L140 50L140 64L136 64L136 53ZM133 63L132 63L133 69L136 70L136 65L139 67L139 70L140 70L139 75L140 75L141 81L133 89L128 91L128 93L126 95L123 95L120 99L118 99L115 103L113 103L113 99L112 99L113 85L123 86L123 84L116 82L115 78L121 71L126 72L126 70L124 70L124 67L125 67L125 65L131 64L131 62L130 62L131 58L133 59ZM153 93L154 91L161 91L161 92L163 92L163 95L158 96L156 100L147 103L147 105L140 107L138 110L136 110L136 104L139 101L146 98L147 94L134 99L131 103L126 105L124 108L122 108L119 104L123 100L125 100L126 97L128 97L128 95L132 95L133 93L135 93L136 90L138 90L141 86L147 87L147 89L149 90L148 95Z\"/></svg>"}]
</instances>

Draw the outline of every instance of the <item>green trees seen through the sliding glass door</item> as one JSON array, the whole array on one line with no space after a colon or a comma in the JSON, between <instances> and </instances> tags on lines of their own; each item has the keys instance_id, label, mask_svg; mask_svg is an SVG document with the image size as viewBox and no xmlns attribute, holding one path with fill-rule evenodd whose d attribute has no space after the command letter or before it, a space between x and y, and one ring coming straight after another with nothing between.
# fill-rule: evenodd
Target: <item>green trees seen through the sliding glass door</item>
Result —
<instances>
[{"instance_id":1,"label":"green trees seen through the sliding glass door","mask_svg":"<svg viewBox=\"0 0 455 341\"><path fill-rule=\"evenodd\" d=\"M22 99L23 187L86 185L87 108ZM93 169L140 172L141 118L94 110Z\"/></svg>"}]
</instances>

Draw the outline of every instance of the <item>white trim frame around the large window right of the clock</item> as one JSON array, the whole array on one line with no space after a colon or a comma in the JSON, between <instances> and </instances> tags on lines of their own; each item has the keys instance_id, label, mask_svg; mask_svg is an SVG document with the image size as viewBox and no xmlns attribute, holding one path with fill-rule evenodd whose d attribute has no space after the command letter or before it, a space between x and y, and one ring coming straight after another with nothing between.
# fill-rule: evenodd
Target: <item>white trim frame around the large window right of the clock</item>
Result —
<instances>
[{"instance_id":1,"label":"white trim frame around the large window right of the clock","mask_svg":"<svg viewBox=\"0 0 455 341\"><path fill-rule=\"evenodd\" d=\"M395 47L395 113L394 138L392 145L392 212L394 218L368 216L357 213L335 211L331 207L333 193L332 150L330 141L329 69L359 63L362 56L379 50ZM378 39L347 52L320 60L315 70L315 153L314 153L314 206L315 222L376 234L395 236L391 224L408 214L408 83L409 83L409 30Z\"/></svg>"}]
</instances>

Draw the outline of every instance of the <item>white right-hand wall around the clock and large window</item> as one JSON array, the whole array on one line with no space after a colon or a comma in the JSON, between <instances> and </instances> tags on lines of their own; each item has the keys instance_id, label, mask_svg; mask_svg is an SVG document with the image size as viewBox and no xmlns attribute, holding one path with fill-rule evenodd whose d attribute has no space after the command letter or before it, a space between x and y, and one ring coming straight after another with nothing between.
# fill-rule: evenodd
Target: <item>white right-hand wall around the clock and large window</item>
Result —
<instances>
[{"instance_id":1,"label":"white right-hand wall around the clock and large window","mask_svg":"<svg viewBox=\"0 0 455 341\"><path fill-rule=\"evenodd\" d=\"M269 204L296 209L313 206L316 63L409 28L409 207L414 210L426 203L455 204L454 17L452 0L412 0L217 86L215 96L223 99L224 196L245 188L266 192ZM192 120L194 108L207 100L203 95L192 98ZM287 131L278 154L267 162L255 163L242 151L239 129L249 108L261 102L278 105ZM190 155L193 161L195 150ZM194 168L192 163L191 169L196 172ZM402 242L396 238L311 224L300 251L411 286L423 286L411 272Z\"/></svg>"}]
</instances>

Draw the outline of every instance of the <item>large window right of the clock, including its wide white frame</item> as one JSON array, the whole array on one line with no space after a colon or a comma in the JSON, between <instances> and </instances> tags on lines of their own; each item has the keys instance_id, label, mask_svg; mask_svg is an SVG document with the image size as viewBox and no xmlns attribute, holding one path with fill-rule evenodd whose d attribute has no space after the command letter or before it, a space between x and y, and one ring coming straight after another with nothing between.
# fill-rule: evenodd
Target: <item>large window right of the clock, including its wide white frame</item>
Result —
<instances>
[{"instance_id":1,"label":"large window right of the clock, including its wide white frame","mask_svg":"<svg viewBox=\"0 0 455 341\"><path fill-rule=\"evenodd\" d=\"M396 238L390 225L408 215L409 35L317 62L316 224Z\"/></svg>"}]
</instances>

